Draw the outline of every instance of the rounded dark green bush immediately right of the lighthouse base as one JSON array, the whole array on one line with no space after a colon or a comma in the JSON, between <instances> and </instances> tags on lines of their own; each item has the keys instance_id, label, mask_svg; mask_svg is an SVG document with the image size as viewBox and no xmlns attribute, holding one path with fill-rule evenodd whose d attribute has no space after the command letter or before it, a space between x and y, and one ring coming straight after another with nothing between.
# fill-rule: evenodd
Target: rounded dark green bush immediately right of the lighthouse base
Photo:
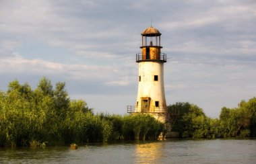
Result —
<instances>
[{"instance_id":1,"label":"rounded dark green bush immediately right of the lighthouse base","mask_svg":"<svg viewBox=\"0 0 256 164\"><path fill-rule=\"evenodd\" d=\"M207 118L198 106L176 103L168 106L169 122L172 131L179 132L184 138L215 138L218 120Z\"/></svg>"}]
</instances>

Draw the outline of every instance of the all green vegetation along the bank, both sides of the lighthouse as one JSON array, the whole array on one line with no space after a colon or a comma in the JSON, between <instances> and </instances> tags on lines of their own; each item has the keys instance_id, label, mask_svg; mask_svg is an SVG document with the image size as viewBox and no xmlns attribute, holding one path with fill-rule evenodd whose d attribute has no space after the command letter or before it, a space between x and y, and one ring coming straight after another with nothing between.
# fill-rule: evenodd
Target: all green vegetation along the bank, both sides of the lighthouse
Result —
<instances>
[{"instance_id":1,"label":"all green vegetation along the bank, both sides of the lighthouse","mask_svg":"<svg viewBox=\"0 0 256 164\"><path fill-rule=\"evenodd\" d=\"M189 103L172 104L168 111L168 124L181 138L256 136L256 97L222 108L219 119ZM156 140L161 132L164 124L148 114L94 114L85 101L69 99L65 83L53 87L46 77L34 90L15 80L0 91L0 147Z\"/></svg>"}]
</instances>

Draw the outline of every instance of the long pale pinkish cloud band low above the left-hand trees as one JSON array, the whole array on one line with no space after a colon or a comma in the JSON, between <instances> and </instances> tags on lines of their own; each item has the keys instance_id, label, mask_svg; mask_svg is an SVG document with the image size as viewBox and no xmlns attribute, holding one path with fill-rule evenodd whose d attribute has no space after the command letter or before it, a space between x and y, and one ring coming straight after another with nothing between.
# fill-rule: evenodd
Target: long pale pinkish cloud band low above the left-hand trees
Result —
<instances>
[{"instance_id":1,"label":"long pale pinkish cloud band low above the left-hand trees","mask_svg":"<svg viewBox=\"0 0 256 164\"><path fill-rule=\"evenodd\" d=\"M22 73L26 75L55 75L63 79L73 79L79 81L98 81L106 85L129 85L130 75L128 68L100 65L68 65L54 63L42 59L28 60L18 56L1 58L0 73ZM64 78L66 77L66 78ZM119 80L119 78L121 80ZM114 81L113 81L114 80Z\"/></svg>"}]
</instances>

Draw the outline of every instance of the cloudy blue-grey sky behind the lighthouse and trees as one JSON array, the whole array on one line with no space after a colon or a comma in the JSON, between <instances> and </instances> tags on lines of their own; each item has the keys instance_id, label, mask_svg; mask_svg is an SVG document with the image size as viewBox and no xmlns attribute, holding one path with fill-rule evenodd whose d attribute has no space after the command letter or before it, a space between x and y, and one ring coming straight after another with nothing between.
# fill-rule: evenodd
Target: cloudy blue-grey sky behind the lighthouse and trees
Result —
<instances>
[{"instance_id":1,"label":"cloudy blue-grey sky behind the lighthouse and trees","mask_svg":"<svg viewBox=\"0 0 256 164\"><path fill-rule=\"evenodd\" d=\"M167 105L188 101L218 118L256 96L255 0L0 0L0 90L47 77L94 113L126 114L151 21L169 58Z\"/></svg>"}]
</instances>

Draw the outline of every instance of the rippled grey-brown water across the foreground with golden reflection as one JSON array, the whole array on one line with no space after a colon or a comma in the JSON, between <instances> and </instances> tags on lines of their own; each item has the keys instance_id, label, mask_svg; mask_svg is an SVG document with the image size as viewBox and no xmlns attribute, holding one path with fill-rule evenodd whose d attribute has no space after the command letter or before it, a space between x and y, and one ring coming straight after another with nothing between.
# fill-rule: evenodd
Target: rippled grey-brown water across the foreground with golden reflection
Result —
<instances>
[{"instance_id":1,"label":"rippled grey-brown water across the foreground with golden reflection","mask_svg":"<svg viewBox=\"0 0 256 164\"><path fill-rule=\"evenodd\" d=\"M256 140L165 140L77 150L0 148L0 163L256 163Z\"/></svg>"}]
</instances>

